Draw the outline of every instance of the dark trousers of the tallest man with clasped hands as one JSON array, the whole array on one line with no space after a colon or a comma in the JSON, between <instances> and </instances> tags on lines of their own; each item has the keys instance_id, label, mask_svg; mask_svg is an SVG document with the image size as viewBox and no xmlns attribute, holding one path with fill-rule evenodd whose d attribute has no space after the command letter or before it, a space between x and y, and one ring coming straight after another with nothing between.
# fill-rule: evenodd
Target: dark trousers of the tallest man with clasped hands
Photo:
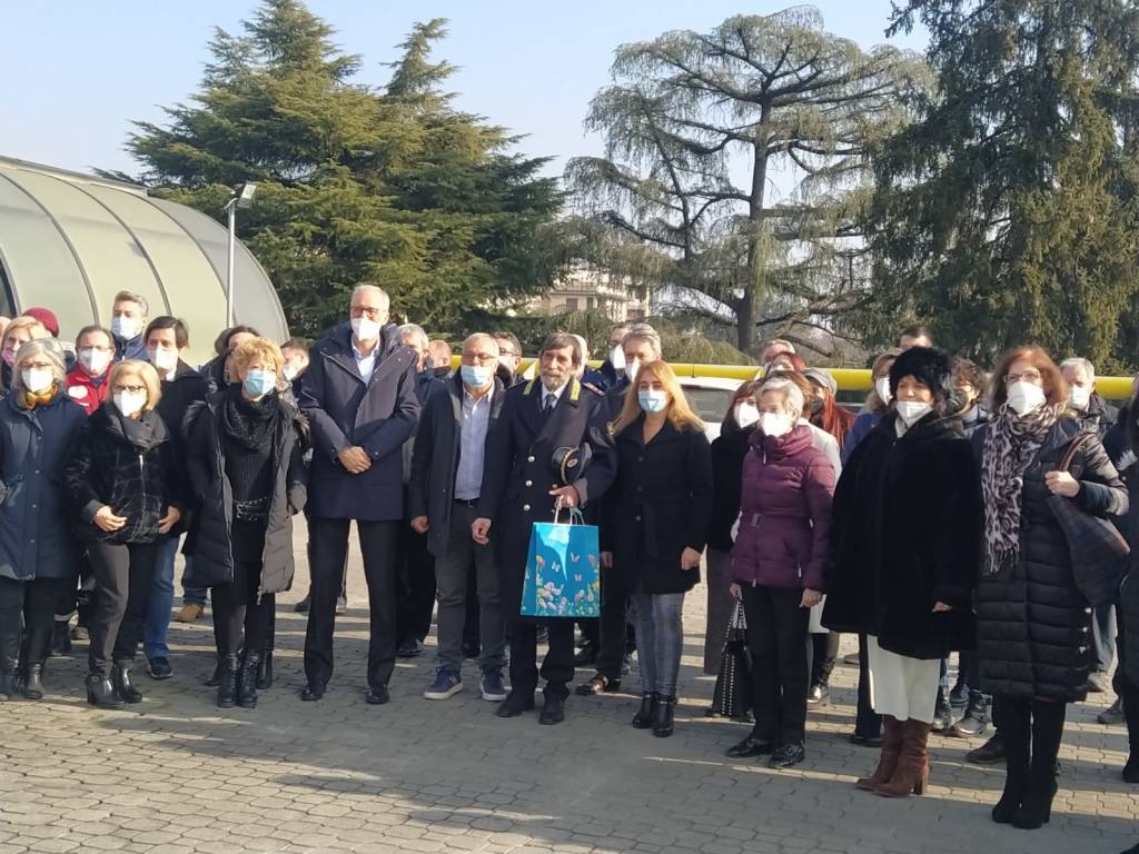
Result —
<instances>
[{"instance_id":1,"label":"dark trousers of the tallest man with clasped hands","mask_svg":"<svg viewBox=\"0 0 1139 854\"><path fill-rule=\"evenodd\" d=\"M336 597L341 592L349 551L351 519L312 517L312 588L309 626L304 634L304 674L311 685L326 685L333 675ZM395 668L395 577L401 522L357 520L363 576L368 582L368 684L387 684Z\"/></svg>"}]
</instances>

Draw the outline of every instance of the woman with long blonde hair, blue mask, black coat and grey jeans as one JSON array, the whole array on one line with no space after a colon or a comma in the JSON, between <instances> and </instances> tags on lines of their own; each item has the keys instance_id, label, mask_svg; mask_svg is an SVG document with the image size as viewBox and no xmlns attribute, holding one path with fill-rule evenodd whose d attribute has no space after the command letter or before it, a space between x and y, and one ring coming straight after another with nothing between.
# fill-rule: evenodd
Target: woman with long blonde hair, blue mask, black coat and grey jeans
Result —
<instances>
[{"instance_id":1,"label":"woman with long blonde hair, blue mask, black coat and grey jeans","mask_svg":"<svg viewBox=\"0 0 1139 854\"><path fill-rule=\"evenodd\" d=\"M704 422L665 362L642 364L612 425L617 478L606 493L601 563L637 611L641 706L632 724L672 734L685 593L699 581L712 507Z\"/></svg>"}]
</instances>

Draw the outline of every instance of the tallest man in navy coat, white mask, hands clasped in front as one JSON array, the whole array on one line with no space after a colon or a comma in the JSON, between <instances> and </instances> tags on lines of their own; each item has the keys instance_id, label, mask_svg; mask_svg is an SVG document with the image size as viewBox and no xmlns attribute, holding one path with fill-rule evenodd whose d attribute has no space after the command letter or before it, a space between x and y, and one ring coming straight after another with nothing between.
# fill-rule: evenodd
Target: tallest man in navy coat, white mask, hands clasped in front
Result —
<instances>
[{"instance_id":1,"label":"tallest man in navy coat, white mask, hands clasped in front","mask_svg":"<svg viewBox=\"0 0 1139 854\"><path fill-rule=\"evenodd\" d=\"M419 419L416 354L385 337L387 294L375 285L352 291L350 323L312 347L301 409L312 426L309 542L312 600L304 638L308 685L319 700L333 675L336 597L357 522L368 582L368 703L387 703L395 667L395 576L403 518L403 442Z\"/></svg>"}]
</instances>

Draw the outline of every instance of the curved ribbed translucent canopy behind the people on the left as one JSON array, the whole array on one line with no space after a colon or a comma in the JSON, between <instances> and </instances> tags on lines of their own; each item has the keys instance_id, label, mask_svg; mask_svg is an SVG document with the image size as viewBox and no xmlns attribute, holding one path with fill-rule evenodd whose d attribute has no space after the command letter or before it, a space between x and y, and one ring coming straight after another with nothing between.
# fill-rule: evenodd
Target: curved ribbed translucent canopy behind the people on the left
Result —
<instances>
[{"instance_id":1,"label":"curved ribbed translucent canopy behind the people on the left","mask_svg":"<svg viewBox=\"0 0 1139 854\"><path fill-rule=\"evenodd\" d=\"M186 321L191 361L210 359L226 327L227 237L219 222L142 187L0 157L0 311L49 307L63 340L109 325L114 295L130 290L151 318ZM240 241L233 290L238 323L288 337L277 291Z\"/></svg>"}]
</instances>

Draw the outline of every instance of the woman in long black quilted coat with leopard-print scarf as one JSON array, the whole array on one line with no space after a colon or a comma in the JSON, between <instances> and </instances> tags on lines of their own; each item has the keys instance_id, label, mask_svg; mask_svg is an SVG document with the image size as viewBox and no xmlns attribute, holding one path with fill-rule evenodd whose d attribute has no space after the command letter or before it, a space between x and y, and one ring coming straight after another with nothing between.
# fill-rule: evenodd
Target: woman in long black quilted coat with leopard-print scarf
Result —
<instances>
[{"instance_id":1,"label":"woman in long black quilted coat with leopard-print scarf","mask_svg":"<svg viewBox=\"0 0 1139 854\"><path fill-rule=\"evenodd\" d=\"M1092 437L1071 471L1056 471L1081 433L1063 376L1046 352L1021 347L994 373L992 421L973 437L984 493L977 584L981 687L993 695L1005 740L1005 793L993 821L1048 821L1066 704L1088 691L1091 615L1072 574L1067 539L1048 500L1087 514L1128 510L1128 493Z\"/></svg>"}]
</instances>

